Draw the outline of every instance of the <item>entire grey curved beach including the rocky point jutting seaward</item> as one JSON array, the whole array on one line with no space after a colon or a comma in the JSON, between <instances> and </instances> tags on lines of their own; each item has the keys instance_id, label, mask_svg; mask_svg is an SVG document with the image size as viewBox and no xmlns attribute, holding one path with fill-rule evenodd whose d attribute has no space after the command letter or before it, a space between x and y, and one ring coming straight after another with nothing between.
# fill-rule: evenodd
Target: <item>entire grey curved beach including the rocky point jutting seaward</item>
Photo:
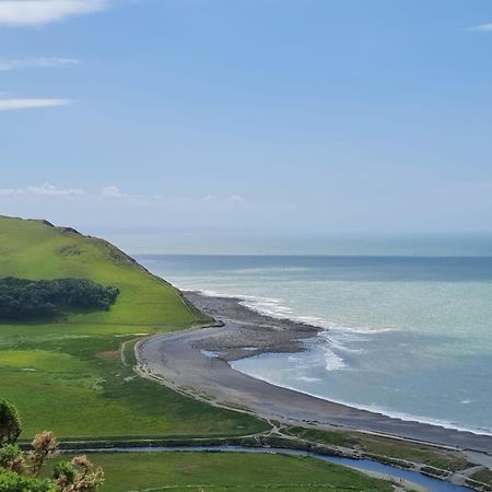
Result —
<instances>
[{"instance_id":1,"label":"entire grey curved beach including the rocky point jutting seaward","mask_svg":"<svg viewBox=\"0 0 492 492\"><path fill-rule=\"evenodd\" d=\"M267 352L302 351L303 340L314 337L319 329L260 315L235 298L195 292L186 295L223 326L156 336L138 345L142 370L162 378L169 387L212 405L242 409L283 423L348 427L492 455L492 436L359 410L234 371L227 361ZM218 356L211 356L210 352Z\"/></svg>"}]
</instances>

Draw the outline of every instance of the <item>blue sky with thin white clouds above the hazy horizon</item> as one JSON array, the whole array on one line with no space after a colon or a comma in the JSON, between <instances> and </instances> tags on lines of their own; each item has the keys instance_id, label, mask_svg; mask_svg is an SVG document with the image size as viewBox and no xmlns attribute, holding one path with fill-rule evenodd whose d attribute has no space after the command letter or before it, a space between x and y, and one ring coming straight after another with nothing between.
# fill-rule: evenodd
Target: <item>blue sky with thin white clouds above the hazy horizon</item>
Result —
<instances>
[{"instance_id":1,"label":"blue sky with thin white clouds above the hazy horizon","mask_svg":"<svg viewBox=\"0 0 492 492\"><path fill-rule=\"evenodd\" d=\"M0 211L492 232L490 0L0 0Z\"/></svg>"}]
</instances>

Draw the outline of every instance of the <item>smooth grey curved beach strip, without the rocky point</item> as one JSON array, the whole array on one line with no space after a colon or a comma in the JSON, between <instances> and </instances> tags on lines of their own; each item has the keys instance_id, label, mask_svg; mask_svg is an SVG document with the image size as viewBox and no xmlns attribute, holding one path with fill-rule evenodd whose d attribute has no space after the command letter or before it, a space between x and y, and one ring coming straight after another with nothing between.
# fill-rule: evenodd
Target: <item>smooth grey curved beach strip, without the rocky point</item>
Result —
<instances>
[{"instance_id":1,"label":"smooth grey curved beach strip, without the rocky point","mask_svg":"<svg viewBox=\"0 0 492 492\"><path fill-rule=\"evenodd\" d=\"M395 419L331 402L235 371L221 358L200 351L200 342L227 328L212 327L160 335L136 345L139 372L210 405L284 424L320 430L343 427L492 455L492 436ZM234 328L234 327L233 327Z\"/></svg>"}]
</instances>

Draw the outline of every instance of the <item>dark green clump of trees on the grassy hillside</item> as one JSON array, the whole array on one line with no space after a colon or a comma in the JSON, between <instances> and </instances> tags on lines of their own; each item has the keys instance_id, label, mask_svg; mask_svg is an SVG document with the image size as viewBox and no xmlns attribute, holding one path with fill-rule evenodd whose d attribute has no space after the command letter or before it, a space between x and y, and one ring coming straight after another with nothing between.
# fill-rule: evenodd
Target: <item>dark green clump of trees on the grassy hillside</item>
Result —
<instances>
[{"instance_id":1,"label":"dark green clump of trees on the grassy hillside","mask_svg":"<svg viewBox=\"0 0 492 492\"><path fill-rule=\"evenodd\" d=\"M109 309L119 290L86 279L0 279L0 320L56 317L67 308Z\"/></svg>"}]
</instances>

